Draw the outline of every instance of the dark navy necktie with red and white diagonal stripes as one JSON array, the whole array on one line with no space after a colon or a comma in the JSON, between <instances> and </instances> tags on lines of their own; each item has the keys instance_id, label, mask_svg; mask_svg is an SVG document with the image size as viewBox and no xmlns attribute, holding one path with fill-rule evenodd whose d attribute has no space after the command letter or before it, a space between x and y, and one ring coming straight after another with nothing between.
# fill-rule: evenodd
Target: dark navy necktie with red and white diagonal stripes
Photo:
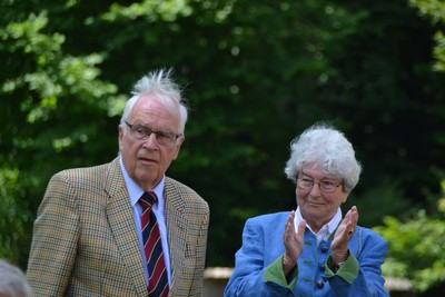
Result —
<instances>
[{"instance_id":1,"label":"dark navy necktie with red and white diagonal stripes","mask_svg":"<svg viewBox=\"0 0 445 297\"><path fill-rule=\"evenodd\" d=\"M144 192L139 199L142 207L141 227L144 238L144 250L147 259L149 275L148 296L165 297L168 295L168 278L166 263L164 260L162 242L158 221L151 206L157 201L155 192Z\"/></svg>"}]
</instances>

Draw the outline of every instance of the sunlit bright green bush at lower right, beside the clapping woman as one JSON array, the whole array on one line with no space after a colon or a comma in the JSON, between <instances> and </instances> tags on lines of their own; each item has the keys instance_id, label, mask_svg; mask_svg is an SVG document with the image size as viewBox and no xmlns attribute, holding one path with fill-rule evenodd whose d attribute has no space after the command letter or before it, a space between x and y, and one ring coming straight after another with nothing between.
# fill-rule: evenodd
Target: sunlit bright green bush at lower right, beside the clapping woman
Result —
<instances>
[{"instance_id":1,"label":"sunlit bright green bush at lower right, beside the clapping woman","mask_svg":"<svg viewBox=\"0 0 445 297\"><path fill-rule=\"evenodd\" d=\"M445 294L445 181L442 189L435 211L421 209L400 219L385 217L384 225L375 227L389 242L384 274L411 279L418 296Z\"/></svg>"}]
</instances>

